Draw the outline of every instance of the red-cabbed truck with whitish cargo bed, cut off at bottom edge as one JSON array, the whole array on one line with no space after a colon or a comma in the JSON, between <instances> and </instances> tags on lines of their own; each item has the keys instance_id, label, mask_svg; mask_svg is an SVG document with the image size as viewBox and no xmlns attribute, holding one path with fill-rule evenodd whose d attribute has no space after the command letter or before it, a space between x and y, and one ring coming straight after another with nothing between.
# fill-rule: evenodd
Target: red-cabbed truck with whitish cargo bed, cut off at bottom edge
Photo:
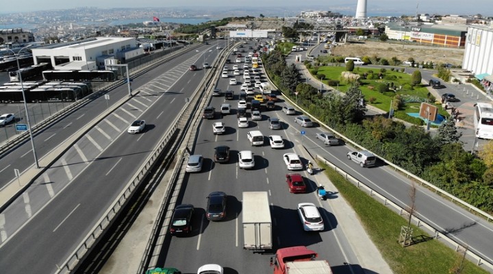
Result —
<instances>
[{"instance_id":1,"label":"red-cabbed truck with whitish cargo bed, cut off at bottom edge","mask_svg":"<svg viewBox=\"0 0 493 274\"><path fill-rule=\"evenodd\" d=\"M274 266L274 274L332 274L329 262L317 257L318 253L307 247L286 247L277 249L270 266Z\"/></svg>"}]
</instances>

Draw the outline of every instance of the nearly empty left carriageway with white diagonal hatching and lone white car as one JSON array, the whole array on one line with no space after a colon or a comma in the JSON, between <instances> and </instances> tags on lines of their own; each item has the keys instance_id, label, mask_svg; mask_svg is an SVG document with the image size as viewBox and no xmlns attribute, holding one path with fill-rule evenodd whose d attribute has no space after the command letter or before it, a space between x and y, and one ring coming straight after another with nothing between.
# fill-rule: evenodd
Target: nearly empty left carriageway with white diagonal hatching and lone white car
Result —
<instances>
[{"instance_id":1,"label":"nearly empty left carriageway with white diagonal hatching and lone white car","mask_svg":"<svg viewBox=\"0 0 493 274\"><path fill-rule=\"evenodd\" d=\"M183 108L205 75L202 70L189 71L190 65L203 60L212 63L218 53L212 49L203 46L136 77L132 85L134 91L140 88L138 95L95 125L0 214L2 272L54 273L58 269ZM110 99L128 96L126 88L112 90ZM99 97L38 134L40 157L105 108L106 101ZM147 121L143 134L127 134L135 119ZM27 145L8 157L29 153ZM20 159L25 169L32 164L29 157Z\"/></svg>"}]
</instances>

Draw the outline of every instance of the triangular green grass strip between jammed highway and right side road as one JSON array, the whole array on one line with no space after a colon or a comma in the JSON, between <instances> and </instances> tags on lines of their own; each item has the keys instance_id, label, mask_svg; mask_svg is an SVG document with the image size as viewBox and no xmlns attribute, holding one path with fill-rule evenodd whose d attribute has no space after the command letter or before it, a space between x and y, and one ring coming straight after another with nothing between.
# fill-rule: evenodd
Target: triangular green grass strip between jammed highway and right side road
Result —
<instances>
[{"instance_id":1,"label":"triangular green grass strip between jammed highway and right side road","mask_svg":"<svg viewBox=\"0 0 493 274\"><path fill-rule=\"evenodd\" d=\"M413 226L413 236L417 242L409 247L402 247L398 242L399 234L401 226L407 225L407 220L347 182L336 171L322 163L319 164L325 169L325 174L336 186L340 195L355 210L372 242L375 243L394 273L452 273L451 269L460 265L462 261L460 253L456 253L438 240L429 238L428 234L416 226ZM419 205L416 208L419 210ZM464 269L460 273L488 272L465 260Z\"/></svg>"}]
</instances>

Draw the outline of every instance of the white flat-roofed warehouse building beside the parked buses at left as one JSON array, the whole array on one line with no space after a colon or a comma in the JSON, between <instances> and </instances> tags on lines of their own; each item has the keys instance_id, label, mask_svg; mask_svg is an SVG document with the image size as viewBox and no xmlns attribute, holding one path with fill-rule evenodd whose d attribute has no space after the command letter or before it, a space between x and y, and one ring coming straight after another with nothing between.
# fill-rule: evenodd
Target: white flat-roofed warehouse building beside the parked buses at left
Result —
<instances>
[{"instance_id":1,"label":"white flat-roofed warehouse building beside the parked buses at left","mask_svg":"<svg viewBox=\"0 0 493 274\"><path fill-rule=\"evenodd\" d=\"M97 70L144 54L135 38L97 37L32 49L34 64L47 62L55 70Z\"/></svg>"}]
</instances>

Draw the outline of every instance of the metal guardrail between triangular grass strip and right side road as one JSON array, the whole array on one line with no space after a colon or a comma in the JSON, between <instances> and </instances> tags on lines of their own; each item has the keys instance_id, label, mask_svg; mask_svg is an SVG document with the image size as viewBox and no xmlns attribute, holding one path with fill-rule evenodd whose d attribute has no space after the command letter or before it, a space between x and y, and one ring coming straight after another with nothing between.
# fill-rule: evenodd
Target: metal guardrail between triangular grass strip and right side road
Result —
<instances>
[{"instance_id":1,"label":"metal guardrail between triangular grass strip and right side road","mask_svg":"<svg viewBox=\"0 0 493 274\"><path fill-rule=\"evenodd\" d=\"M375 197L378 197L379 199L381 199L381 201L383 201L384 206L392 206L392 208L399 211L399 214L401 214L401 215L408 214L407 210L405 210L404 208L401 208L401 206L398 206L396 203L394 203L390 199L385 198L379 192L377 192L376 190L373 190L372 188L370 188L369 186L367 186L363 182L360 182L355 177L349 175L349 173L346 173L345 171L340 169L335 164L332 164L329 160L323 158L320 155L316 155L316 158L318 160L322 161L327 166L330 166L331 169L333 169L334 171L337 171L338 173L340 173L340 175L344 176L345 179L353 182L358 188L365 188L369 192L370 196L375 196ZM476 253L470 251L468 248L460 245L458 242L455 242L455 240L453 240L452 238L449 238L448 236L446 236L446 234L443 234L442 232L438 231L437 229L435 229L434 227L432 227L431 225L429 225L425 221L422 221L417 216L412 215L412 219L413 219L413 221L416 222L417 227L425 227L426 229L428 229L431 232L431 234L434 234L435 236L433 238L437 238L437 239L442 238L443 240L446 240L446 242L448 242L448 244L455 247L455 251L461 250L461 251L466 252L467 256L469 256L470 259L474 259L478 266L484 265L484 266L487 266L490 269L490 271L493 271L493 264L491 264L487 260L484 260L483 258L481 258L481 256L478 256Z\"/></svg>"}]
</instances>

